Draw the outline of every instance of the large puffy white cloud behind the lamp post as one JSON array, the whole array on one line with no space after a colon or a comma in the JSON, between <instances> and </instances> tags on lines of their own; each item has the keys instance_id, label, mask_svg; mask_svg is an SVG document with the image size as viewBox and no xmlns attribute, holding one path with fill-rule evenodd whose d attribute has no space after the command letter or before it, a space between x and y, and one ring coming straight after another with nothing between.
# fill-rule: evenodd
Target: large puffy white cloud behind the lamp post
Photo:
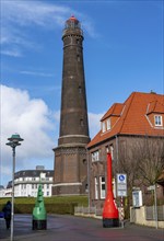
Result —
<instances>
[{"instance_id":1,"label":"large puffy white cloud behind the lamp post","mask_svg":"<svg viewBox=\"0 0 164 241\"><path fill-rule=\"evenodd\" d=\"M54 162L52 113L43 100L31 99L26 91L1 85L1 180L10 180L11 150L5 144L12 134L19 133L24 139L16 148L17 170L35 168L39 161ZM54 119L55 120L55 119ZM31 162L31 160L33 160ZM34 161L35 160L35 161ZM35 162L35 163L34 163ZM52 167L52 163L50 163Z\"/></svg>"}]
</instances>

